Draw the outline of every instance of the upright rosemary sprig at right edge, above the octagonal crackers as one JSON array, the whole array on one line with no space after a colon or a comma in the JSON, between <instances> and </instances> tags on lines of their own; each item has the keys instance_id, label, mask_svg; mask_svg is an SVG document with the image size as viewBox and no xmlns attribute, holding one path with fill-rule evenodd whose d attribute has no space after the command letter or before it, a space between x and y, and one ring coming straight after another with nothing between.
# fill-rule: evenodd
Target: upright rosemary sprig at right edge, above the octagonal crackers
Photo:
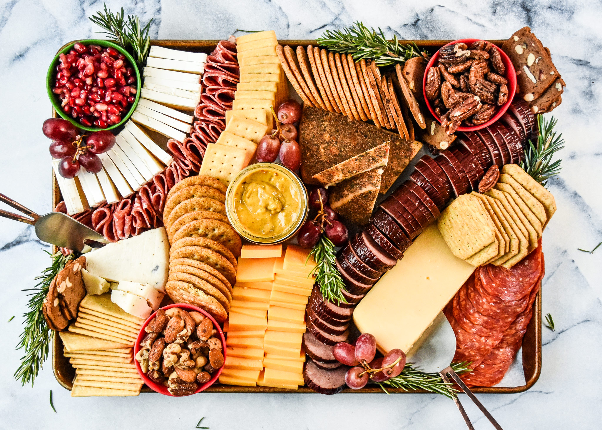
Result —
<instances>
[{"instance_id":1,"label":"upright rosemary sprig at right edge, above the octagonal crackers","mask_svg":"<svg viewBox=\"0 0 602 430\"><path fill-rule=\"evenodd\" d=\"M539 137L536 145L529 140L529 146L525 150L525 160L521 162L524 171L545 187L547 179L560 172L560 162L552 162L552 157L557 151L564 148L564 139L562 134L556 136L554 127L558 120L551 117L545 121L541 115L537 116L537 126Z\"/></svg>"}]
</instances>

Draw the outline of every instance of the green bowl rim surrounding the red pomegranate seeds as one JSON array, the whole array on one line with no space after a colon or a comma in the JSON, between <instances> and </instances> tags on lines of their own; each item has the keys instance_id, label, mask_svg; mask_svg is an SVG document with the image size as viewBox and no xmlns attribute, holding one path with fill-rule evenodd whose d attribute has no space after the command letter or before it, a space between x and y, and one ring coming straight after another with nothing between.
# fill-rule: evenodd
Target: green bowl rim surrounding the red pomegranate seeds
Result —
<instances>
[{"instance_id":1,"label":"green bowl rim surrounding the red pomegranate seeds","mask_svg":"<svg viewBox=\"0 0 602 430\"><path fill-rule=\"evenodd\" d=\"M58 97L58 95L56 95L55 93L52 92L52 89L54 88L54 83L56 80L55 79L55 74L57 73L56 68L59 63L58 56L60 54L67 54L67 52L69 52L71 49L73 49L73 45L75 45L75 42L73 42L73 43L70 43L69 45L67 45L64 49L61 49L61 51L59 51L57 53L57 55L54 57L54 60L52 60L50 67L48 68L48 75L46 75L46 91L48 92L48 97L50 98L52 106L54 106L54 110L57 112L57 114L59 116L68 120L73 125L75 125L77 128L86 130L86 131L111 130L113 128L119 127L120 125L125 124L125 122L129 119L129 117L132 116L132 113L134 113L134 110L135 110L136 106L138 105L138 100L140 100L140 87L141 87L140 70L138 70L138 67L136 66L136 62L134 61L134 58L132 58L132 56L129 55L129 52L126 51L125 49L123 49L121 46L116 45L113 42L109 42L108 40L88 39L88 40L79 40L79 43L83 43L86 46L87 45L98 45L98 46L102 46L103 48L107 48L108 46L111 46L111 48L114 48L117 51L119 51L120 54L125 55L125 58L128 60L129 64L131 64L132 68L136 72L136 86L137 86L136 99L134 101L134 104L132 104L131 107L129 108L129 112L126 114L126 116L122 117L121 122L110 125L107 128L87 127L87 126L79 123L75 119L73 119L72 116L64 113L63 109L61 108L61 99Z\"/></svg>"}]
</instances>

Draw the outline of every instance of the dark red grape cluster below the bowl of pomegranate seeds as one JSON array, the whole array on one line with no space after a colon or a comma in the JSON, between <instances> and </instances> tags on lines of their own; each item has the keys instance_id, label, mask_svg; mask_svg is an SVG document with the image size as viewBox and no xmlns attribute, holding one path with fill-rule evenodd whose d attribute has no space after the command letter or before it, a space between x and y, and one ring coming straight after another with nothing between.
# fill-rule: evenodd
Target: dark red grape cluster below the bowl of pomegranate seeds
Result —
<instances>
[{"instance_id":1,"label":"dark red grape cluster below the bowl of pomegranate seeds","mask_svg":"<svg viewBox=\"0 0 602 430\"><path fill-rule=\"evenodd\" d=\"M75 125L62 118L45 120L42 132L48 139L52 139L50 155L61 160L58 163L58 173L63 178L75 178L80 167L90 173L100 172L102 161L97 154L107 152L115 145L115 136L110 131L80 134Z\"/></svg>"}]
</instances>

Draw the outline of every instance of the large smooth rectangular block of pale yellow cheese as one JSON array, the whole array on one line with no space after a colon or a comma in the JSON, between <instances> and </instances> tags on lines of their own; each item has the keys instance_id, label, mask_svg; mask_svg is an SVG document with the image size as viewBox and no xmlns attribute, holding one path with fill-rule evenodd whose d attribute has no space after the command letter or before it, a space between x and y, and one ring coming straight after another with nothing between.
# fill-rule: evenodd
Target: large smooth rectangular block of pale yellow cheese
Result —
<instances>
[{"instance_id":1,"label":"large smooth rectangular block of pale yellow cheese","mask_svg":"<svg viewBox=\"0 0 602 430\"><path fill-rule=\"evenodd\" d=\"M376 337L383 354L408 352L473 272L430 225L359 302L353 322Z\"/></svg>"}]
</instances>

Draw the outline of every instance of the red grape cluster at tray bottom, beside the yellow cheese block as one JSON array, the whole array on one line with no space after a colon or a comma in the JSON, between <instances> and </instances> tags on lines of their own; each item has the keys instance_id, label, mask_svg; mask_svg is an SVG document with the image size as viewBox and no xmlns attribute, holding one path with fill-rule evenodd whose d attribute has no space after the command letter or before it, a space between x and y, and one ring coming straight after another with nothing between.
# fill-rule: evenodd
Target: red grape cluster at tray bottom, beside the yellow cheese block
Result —
<instances>
[{"instance_id":1,"label":"red grape cluster at tray bottom, beside the yellow cheese block","mask_svg":"<svg viewBox=\"0 0 602 430\"><path fill-rule=\"evenodd\" d=\"M353 390L364 388L368 379L383 382L402 373L406 365L406 355L401 349L391 349L385 357L376 357L376 338L370 333L359 335L355 344L339 342L334 346L332 354L347 366L345 383Z\"/></svg>"}]
</instances>

